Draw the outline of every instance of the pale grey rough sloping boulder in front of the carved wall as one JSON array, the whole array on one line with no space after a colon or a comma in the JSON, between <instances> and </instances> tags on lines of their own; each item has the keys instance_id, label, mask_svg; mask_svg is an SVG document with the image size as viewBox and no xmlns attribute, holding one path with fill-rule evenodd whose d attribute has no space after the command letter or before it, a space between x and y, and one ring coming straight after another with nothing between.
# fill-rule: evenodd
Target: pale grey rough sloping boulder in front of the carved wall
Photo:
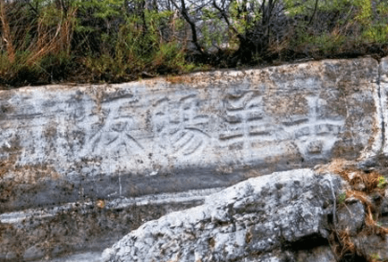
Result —
<instances>
[{"instance_id":1,"label":"pale grey rough sloping boulder in front of the carved wall","mask_svg":"<svg viewBox=\"0 0 388 262\"><path fill-rule=\"evenodd\" d=\"M339 176L310 169L250 178L141 225L105 250L104 261L264 261L257 254L324 245L341 188Z\"/></svg>"}]
</instances>

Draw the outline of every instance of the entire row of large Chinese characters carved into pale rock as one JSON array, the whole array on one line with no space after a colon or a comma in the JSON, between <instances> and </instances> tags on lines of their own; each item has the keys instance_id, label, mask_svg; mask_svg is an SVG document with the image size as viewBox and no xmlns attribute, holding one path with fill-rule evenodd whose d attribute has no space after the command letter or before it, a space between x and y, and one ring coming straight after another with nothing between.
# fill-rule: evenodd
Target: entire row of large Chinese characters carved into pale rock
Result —
<instances>
[{"instance_id":1,"label":"entire row of large Chinese characters carved into pale rock","mask_svg":"<svg viewBox=\"0 0 388 262\"><path fill-rule=\"evenodd\" d=\"M321 111L327 102L318 96L305 97L307 114L290 111L284 117L268 113L266 95L255 91L224 94L221 101L214 102L220 109L215 112L203 109L206 101L198 92L148 97L149 104L141 97L117 98L98 110L69 103L45 125L30 128L23 157L42 162L55 159L57 152L68 161L97 157L129 167L134 156L143 161L153 154L179 162L190 155L240 151L252 159L257 150L271 153L294 143L308 159L330 151L343 129L344 119L325 119ZM2 137L6 134L9 130L2 131ZM1 143L8 144L6 139Z\"/></svg>"}]
</instances>

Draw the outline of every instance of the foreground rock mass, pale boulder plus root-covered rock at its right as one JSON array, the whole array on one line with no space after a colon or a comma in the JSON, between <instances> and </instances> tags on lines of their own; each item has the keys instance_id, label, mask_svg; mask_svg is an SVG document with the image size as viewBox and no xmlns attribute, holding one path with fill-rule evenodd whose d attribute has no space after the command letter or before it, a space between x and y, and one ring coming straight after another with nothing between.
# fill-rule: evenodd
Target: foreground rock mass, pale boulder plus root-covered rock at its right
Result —
<instances>
[{"instance_id":1,"label":"foreground rock mass, pale boulder plus root-covered rock at its right","mask_svg":"<svg viewBox=\"0 0 388 262\"><path fill-rule=\"evenodd\" d=\"M353 182L325 168L250 178L201 206L141 225L102 261L386 261L388 236L379 230L387 225L388 190L361 198L366 206L354 197L339 201ZM375 229L366 218L370 207ZM342 238L340 250L333 235Z\"/></svg>"}]
</instances>

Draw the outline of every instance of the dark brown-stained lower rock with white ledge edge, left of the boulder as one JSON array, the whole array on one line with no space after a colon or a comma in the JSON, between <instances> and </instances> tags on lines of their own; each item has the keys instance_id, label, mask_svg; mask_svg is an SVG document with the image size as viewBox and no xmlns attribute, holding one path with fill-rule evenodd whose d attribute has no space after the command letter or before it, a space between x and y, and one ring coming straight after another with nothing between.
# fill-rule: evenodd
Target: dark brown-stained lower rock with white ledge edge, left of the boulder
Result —
<instances>
[{"instance_id":1,"label":"dark brown-stained lower rock with white ledge edge, left of the boulder","mask_svg":"<svg viewBox=\"0 0 388 262\"><path fill-rule=\"evenodd\" d=\"M206 195L220 190L84 201L55 209L4 213L0 215L0 261L41 261L33 254L43 252L45 261L58 258L59 262L79 262L79 257L70 255L81 253L85 261L97 262L94 257L99 257L102 250L139 225L176 210L198 206ZM34 250L40 252L32 253ZM98 255L89 258L89 251Z\"/></svg>"}]
</instances>

